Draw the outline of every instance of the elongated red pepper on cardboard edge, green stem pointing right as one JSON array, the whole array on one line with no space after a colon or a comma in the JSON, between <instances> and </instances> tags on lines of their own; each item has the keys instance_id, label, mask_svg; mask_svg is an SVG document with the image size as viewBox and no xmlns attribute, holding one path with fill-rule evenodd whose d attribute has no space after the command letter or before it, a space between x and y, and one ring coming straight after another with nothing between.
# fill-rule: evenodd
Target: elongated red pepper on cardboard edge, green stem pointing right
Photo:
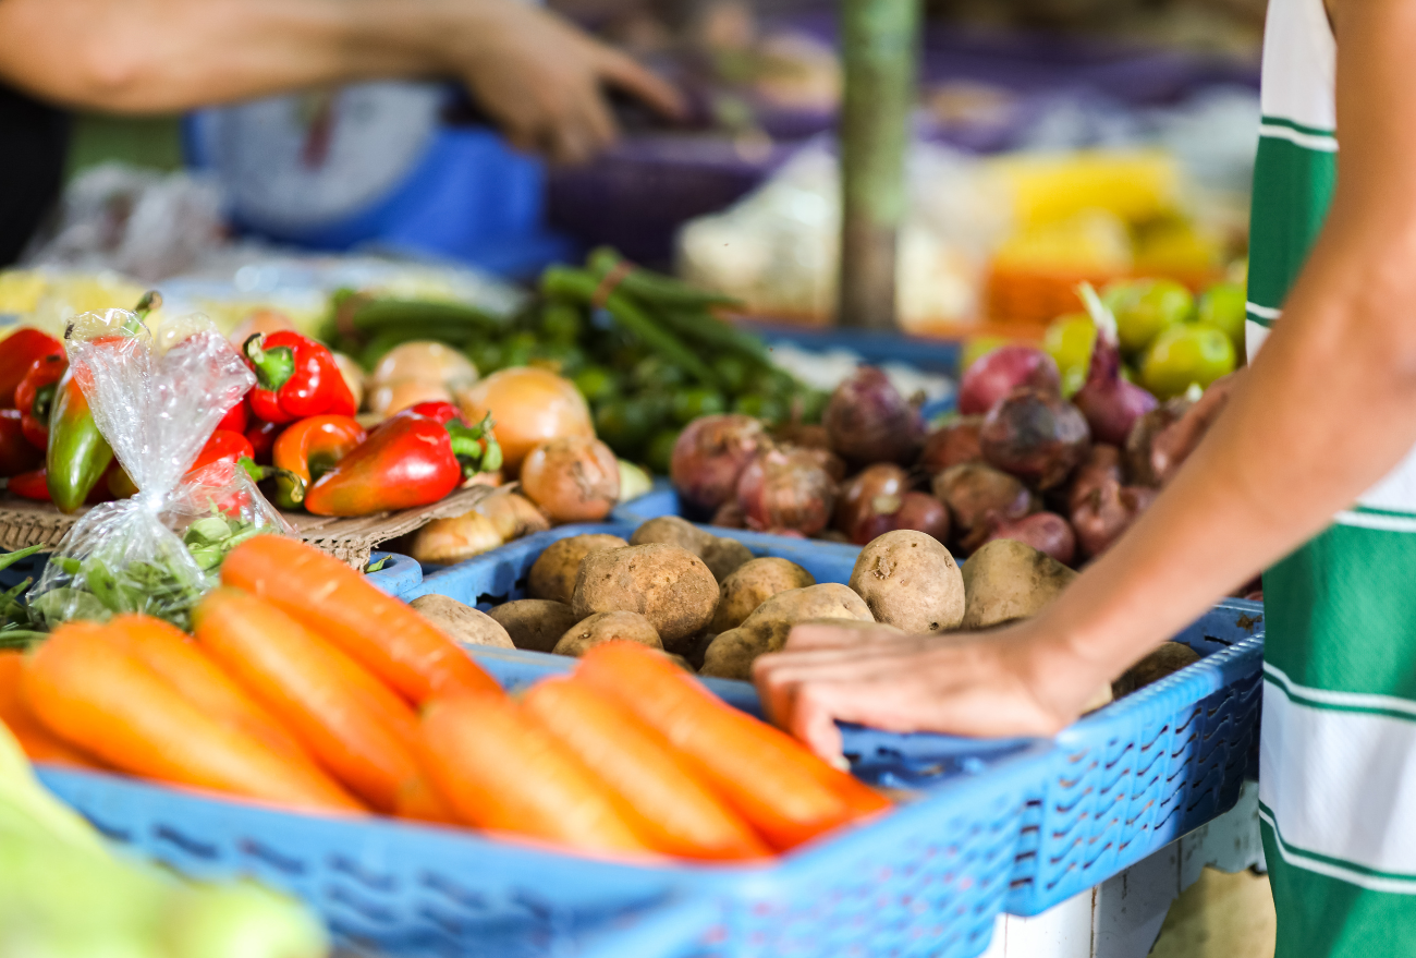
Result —
<instances>
[{"instance_id":1,"label":"elongated red pepper on cardboard edge, green stem pointing right","mask_svg":"<svg viewBox=\"0 0 1416 958\"><path fill-rule=\"evenodd\" d=\"M463 478L500 466L491 417L469 428L405 410L310 486L304 507L316 516L367 516L428 506Z\"/></svg>"}]
</instances>

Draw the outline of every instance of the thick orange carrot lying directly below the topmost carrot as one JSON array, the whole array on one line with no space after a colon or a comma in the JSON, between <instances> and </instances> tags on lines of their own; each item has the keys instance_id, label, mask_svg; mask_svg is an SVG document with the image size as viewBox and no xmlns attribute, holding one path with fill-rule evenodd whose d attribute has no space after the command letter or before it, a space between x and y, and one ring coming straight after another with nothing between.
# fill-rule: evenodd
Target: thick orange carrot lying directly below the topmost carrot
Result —
<instances>
[{"instance_id":1,"label":"thick orange carrot lying directly below the topmost carrot","mask_svg":"<svg viewBox=\"0 0 1416 958\"><path fill-rule=\"evenodd\" d=\"M419 777L418 717L360 663L289 615L234 588L191 614L201 648L355 795L392 812Z\"/></svg>"}]
</instances>

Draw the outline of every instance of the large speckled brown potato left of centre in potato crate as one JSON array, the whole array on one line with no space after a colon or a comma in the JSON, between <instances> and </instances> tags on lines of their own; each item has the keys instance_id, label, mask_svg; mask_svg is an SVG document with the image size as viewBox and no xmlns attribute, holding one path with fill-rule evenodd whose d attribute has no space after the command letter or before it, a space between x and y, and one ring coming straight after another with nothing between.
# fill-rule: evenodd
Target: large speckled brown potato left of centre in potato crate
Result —
<instances>
[{"instance_id":1,"label":"large speckled brown potato left of centre in potato crate","mask_svg":"<svg viewBox=\"0 0 1416 958\"><path fill-rule=\"evenodd\" d=\"M571 599L581 616L639 612L675 653L690 650L716 607L718 581L704 561L664 543L590 553L581 563Z\"/></svg>"}]
</instances>

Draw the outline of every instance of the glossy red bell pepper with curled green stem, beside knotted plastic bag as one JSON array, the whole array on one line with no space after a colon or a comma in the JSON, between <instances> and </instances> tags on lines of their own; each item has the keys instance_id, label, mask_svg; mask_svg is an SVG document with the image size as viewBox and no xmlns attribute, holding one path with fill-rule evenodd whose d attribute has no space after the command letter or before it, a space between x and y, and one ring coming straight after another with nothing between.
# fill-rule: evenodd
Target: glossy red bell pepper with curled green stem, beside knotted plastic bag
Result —
<instances>
[{"instance_id":1,"label":"glossy red bell pepper with curled green stem, beside knotted plastic bag","mask_svg":"<svg viewBox=\"0 0 1416 958\"><path fill-rule=\"evenodd\" d=\"M299 333L256 333L242 347L256 374L251 412L266 422L354 415L354 394L329 349Z\"/></svg>"}]
</instances>

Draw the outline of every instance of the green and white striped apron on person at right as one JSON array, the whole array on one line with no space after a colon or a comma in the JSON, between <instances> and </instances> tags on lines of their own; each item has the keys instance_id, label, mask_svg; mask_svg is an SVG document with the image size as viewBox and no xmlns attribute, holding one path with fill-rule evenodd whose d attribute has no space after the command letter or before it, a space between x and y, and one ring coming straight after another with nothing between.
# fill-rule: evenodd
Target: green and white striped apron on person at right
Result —
<instances>
[{"instance_id":1,"label":"green and white striped apron on person at right","mask_svg":"<svg viewBox=\"0 0 1416 958\"><path fill-rule=\"evenodd\" d=\"M1250 356L1332 197L1334 65L1323 0L1270 0ZM1416 955L1416 456L1264 573L1263 592L1259 801L1277 958Z\"/></svg>"}]
</instances>

